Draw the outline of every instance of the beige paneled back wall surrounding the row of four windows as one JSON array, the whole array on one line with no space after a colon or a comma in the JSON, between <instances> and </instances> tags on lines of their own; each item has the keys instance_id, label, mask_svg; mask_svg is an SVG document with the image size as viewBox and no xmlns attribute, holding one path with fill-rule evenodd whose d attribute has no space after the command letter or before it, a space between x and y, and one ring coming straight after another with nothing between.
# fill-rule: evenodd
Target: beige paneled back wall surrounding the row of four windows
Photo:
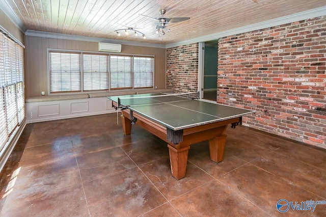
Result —
<instances>
[{"instance_id":1,"label":"beige paneled back wall surrounding the row of four windows","mask_svg":"<svg viewBox=\"0 0 326 217\"><path fill-rule=\"evenodd\" d=\"M26 36L26 97L48 94L47 48L98 51L97 42L55 39L46 37ZM121 53L154 55L155 78L154 86L166 88L166 49L122 45Z\"/></svg>"}]
</instances>

